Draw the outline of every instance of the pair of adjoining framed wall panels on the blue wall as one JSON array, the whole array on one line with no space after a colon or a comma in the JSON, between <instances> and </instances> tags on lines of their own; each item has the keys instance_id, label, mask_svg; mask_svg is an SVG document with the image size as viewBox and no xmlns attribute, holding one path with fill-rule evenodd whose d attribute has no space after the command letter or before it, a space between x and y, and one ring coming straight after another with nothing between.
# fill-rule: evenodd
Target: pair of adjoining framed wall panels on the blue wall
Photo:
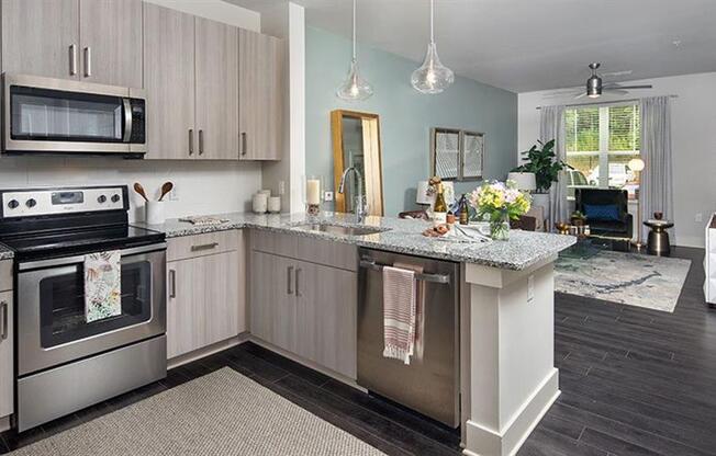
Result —
<instances>
[{"instance_id":1,"label":"pair of adjoining framed wall panels on the blue wall","mask_svg":"<svg viewBox=\"0 0 716 456\"><path fill-rule=\"evenodd\" d=\"M484 134L455 128L430 130L430 175L478 181L484 167Z\"/></svg>"}]
</instances>

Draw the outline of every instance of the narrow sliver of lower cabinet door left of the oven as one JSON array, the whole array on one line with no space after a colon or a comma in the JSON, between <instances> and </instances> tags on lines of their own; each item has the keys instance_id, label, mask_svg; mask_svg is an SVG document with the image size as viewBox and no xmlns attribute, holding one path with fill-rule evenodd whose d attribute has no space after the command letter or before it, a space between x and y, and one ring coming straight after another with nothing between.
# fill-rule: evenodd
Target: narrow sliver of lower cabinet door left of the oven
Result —
<instances>
[{"instance_id":1,"label":"narrow sliver of lower cabinet door left of the oven","mask_svg":"<svg viewBox=\"0 0 716 456\"><path fill-rule=\"evenodd\" d=\"M2 292L0 293L0 418L8 417L14 411L14 350L12 321L12 292Z\"/></svg>"}]
</instances>

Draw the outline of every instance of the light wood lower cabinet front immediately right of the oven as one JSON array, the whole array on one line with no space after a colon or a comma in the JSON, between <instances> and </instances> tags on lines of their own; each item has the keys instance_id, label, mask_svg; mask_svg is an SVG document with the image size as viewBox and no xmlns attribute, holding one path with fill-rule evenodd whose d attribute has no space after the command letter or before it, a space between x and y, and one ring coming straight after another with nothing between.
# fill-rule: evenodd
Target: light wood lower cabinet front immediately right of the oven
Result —
<instances>
[{"instance_id":1,"label":"light wood lower cabinet front immediately right of the oven","mask_svg":"<svg viewBox=\"0 0 716 456\"><path fill-rule=\"evenodd\" d=\"M170 249L203 235L170 240ZM177 248L172 246L176 243ZM205 250L198 250L205 252ZM243 237L237 250L167 263L167 357L177 357L246 330Z\"/></svg>"}]
</instances>

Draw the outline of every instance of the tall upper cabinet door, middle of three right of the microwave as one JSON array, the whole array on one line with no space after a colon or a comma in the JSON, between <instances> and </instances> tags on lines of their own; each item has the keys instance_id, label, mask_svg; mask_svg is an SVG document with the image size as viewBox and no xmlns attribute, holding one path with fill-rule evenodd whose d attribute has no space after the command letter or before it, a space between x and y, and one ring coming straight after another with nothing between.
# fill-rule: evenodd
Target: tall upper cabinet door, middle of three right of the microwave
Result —
<instances>
[{"instance_id":1,"label":"tall upper cabinet door, middle of three right of the microwave","mask_svg":"<svg viewBox=\"0 0 716 456\"><path fill-rule=\"evenodd\" d=\"M238 29L195 18L197 140L202 159L238 159Z\"/></svg>"}]
</instances>

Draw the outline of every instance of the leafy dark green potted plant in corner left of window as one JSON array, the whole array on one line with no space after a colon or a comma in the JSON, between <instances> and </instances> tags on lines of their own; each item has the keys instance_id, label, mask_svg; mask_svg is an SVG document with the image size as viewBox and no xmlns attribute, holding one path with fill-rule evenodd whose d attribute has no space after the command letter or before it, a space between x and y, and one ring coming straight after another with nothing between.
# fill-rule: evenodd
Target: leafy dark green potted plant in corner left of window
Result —
<instances>
[{"instance_id":1,"label":"leafy dark green potted plant in corner left of window","mask_svg":"<svg viewBox=\"0 0 716 456\"><path fill-rule=\"evenodd\" d=\"M529 150L522 152L522 156L525 162L512 170L512 172L535 173L537 190L533 194L533 203L547 209L549 206L549 189L552 186L552 182L557 182L561 171L572 167L557 159L553 139L547 142L538 140Z\"/></svg>"}]
</instances>

